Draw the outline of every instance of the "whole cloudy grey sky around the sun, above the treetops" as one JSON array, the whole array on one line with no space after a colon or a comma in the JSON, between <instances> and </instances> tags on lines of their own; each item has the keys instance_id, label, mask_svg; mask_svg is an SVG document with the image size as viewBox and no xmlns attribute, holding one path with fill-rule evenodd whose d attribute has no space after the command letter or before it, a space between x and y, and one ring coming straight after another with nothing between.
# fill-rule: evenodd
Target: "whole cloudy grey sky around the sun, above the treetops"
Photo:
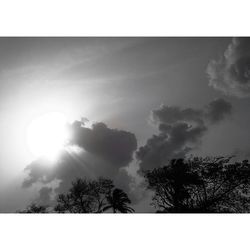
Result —
<instances>
[{"instance_id":1,"label":"whole cloudy grey sky around the sun, above the treetops","mask_svg":"<svg viewBox=\"0 0 250 250\"><path fill-rule=\"evenodd\" d=\"M191 154L248 158L249 105L249 38L2 37L0 212L100 176L136 212L154 211L142 172ZM56 164L27 146L29 125L51 112L74 135Z\"/></svg>"}]
</instances>

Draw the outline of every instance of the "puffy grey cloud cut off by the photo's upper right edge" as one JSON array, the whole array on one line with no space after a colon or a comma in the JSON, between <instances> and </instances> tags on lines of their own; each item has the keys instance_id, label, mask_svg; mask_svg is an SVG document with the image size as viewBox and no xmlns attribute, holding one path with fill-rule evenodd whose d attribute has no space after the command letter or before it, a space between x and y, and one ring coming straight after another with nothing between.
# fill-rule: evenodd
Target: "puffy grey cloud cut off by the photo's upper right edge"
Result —
<instances>
[{"instance_id":1,"label":"puffy grey cloud cut off by the photo's upper right edge","mask_svg":"<svg viewBox=\"0 0 250 250\"><path fill-rule=\"evenodd\" d=\"M224 94L250 96L250 38L233 38L224 55L207 66L209 85Z\"/></svg>"}]
</instances>

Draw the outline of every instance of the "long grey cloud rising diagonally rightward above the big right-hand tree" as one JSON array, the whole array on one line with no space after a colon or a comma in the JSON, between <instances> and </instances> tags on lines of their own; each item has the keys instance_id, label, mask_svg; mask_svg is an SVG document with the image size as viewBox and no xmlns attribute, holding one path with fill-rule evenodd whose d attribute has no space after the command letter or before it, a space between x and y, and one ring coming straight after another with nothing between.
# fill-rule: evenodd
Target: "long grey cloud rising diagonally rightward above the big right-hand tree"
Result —
<instances>
[{"instance_id":1,"label":"long grey cloud rising diagonally rightward above the big right-hand tree","mask_svg":"<svg viewBox=\"0 0 250 250\"><path fill-rule=\"evenodd\" d=\"M223 99L210 102L204 109L182 109L161 105L151 112L151 121L159 133L149 138L136 152L140 170L166 164L184 157L201 143L209 124L216 124L231 114L231 104Z\"/></svg>"}]
</instances>

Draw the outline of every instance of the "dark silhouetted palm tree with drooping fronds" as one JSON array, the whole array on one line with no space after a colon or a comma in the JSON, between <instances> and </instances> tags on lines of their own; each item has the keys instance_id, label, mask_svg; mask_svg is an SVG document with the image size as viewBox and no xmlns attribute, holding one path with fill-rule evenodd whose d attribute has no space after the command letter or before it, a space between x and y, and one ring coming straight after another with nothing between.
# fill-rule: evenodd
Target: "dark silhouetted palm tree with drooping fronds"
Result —
<instances>
[{"instance_id":1,"label":"dark silhouetted palm tree with drooping fronds","mask_svg":"<svg viewBox=\"0 0 250 250\"><path fill-rule=\"evenodd\" d=\"M108 209L113 209L113 212L120 212L120 213L133 213L134 209L129 207L127 204L130 204L131 201L128 198L127 194L119 189L115 188L113 191L111 191L107 197L107 203L103 208L103 212L108 210Z\"/></svg>"}]
</instances>

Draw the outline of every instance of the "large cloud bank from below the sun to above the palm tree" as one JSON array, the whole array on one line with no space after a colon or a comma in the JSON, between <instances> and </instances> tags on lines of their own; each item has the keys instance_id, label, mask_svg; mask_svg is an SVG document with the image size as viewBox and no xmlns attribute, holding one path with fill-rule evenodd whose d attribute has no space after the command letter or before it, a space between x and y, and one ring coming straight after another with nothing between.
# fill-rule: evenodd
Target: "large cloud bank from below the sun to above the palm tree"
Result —
<instances>
[{"instance_id":1,"label":"large cloud bank from below the sun to above the palm tree","mask_svg":"<svg viewBox=\"0 0 250 250\"><path fill-rule=\"evenodd\" d=\"M52 191L55 194L67 191L72 180L77 177L95 179L102 176L122 184L120 177L125 176L132 181L132 177L120 172L133 159L137 148L134 134L110 129L104 123L96 123L92 128L86 128L79 121L70 125L70 132L70 145L61 152L57 162L37 159L26 167L27 178L23 187L28 188L33 184L48 185L58 181L53 190L40 190L39 199L45 202Z\"/></svg>"}]
</instances>

